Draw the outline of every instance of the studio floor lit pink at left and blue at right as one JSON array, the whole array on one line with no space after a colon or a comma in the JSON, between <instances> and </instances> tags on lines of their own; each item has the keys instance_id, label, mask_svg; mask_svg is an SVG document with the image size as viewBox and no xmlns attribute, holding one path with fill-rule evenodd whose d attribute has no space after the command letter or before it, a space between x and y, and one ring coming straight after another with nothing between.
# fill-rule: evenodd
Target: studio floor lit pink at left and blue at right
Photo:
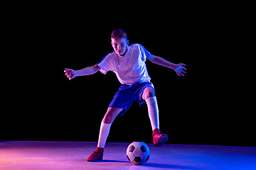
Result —
<instances>
[{"instance_id":1,"label":"studio floor lit pink at left and blue at right","mask_svg":"<svg viewBox=\"0 0 256 170\"><path fill-rule=\"evenodd\" d=\"M87 162L97 142L0 141L0 170L256 169L256 147L148 144L146 164L131 164L129 143L107 143L100 162Z\"/></svg>"}]
</instances>

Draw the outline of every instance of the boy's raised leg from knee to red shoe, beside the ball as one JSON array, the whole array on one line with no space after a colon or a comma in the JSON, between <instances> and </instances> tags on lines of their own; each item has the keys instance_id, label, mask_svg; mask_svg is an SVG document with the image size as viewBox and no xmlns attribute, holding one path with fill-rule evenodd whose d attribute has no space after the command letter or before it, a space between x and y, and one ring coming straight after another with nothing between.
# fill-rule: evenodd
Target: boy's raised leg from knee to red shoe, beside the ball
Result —
<instances>
[{"instance_id":1,"label":"boy's raised leg from knee to red shoe, beside the ball","mask_svg":"<svg viewBox=\"0 0 256 170\"><path fill-rule=\"evenodd\" d=\"M156 96L154 89L147 87L144 89L142 98L146 101L149 111L149 119L153 130L153 143L156 147L161 146L168 140L167 135L162 134L159 130L159 109L157 106Z\"/></svg>"}]
</instances>

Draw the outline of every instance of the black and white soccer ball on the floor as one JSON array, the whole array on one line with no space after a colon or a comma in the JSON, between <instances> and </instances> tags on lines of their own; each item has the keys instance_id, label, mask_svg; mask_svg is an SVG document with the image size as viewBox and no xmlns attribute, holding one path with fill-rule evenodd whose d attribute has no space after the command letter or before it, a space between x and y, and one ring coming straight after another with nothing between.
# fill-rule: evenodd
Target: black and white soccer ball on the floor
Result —
<instances>
[{"instance_id":1,"label":"black and white soccer ball on the floor","mask_svg":"<svg viewBox=\"0 0 256 170\"><path fill-rule=\"evenodd\" d=\"M127 147L127 158L132 164L145 164L149 160L149 154L149 147L144 142L132 142Z\"/></svg>"}]
</instances>

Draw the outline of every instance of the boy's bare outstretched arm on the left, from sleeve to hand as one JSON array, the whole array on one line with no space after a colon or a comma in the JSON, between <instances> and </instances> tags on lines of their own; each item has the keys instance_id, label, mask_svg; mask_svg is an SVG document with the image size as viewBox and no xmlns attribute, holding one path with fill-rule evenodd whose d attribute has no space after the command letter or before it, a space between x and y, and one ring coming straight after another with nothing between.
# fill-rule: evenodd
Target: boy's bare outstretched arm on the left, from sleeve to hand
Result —
<instances>
[{"instance_id":1,"label":"boy's bare outstretched arm on the left, from sleeve to hand","mask_svg":"<svg viewBox=\"0 0 256 170\"><path fill-rule=\"evenodd\" d=\"M91 74L95 74L96 72L98 72L100 70L100 67L95 65L92 67L85 67L84 69L79 69L79 70L73 70L73 69L65 69L65 76L68 77L68 79L73 79L75 77L79 77L79 76L87 76L87 75L91 75Z\"/></svg>"}]
</instances>

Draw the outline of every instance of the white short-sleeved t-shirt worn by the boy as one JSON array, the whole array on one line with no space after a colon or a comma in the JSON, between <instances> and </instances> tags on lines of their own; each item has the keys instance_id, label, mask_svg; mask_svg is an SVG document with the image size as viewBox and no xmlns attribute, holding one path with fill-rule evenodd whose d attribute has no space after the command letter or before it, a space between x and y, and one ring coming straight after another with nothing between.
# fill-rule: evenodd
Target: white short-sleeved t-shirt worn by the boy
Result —
<instances>
[{"instance_id":1,"label":"white short-sleeved t-shirt worn by the boy","mask_svg":"<svg viewBox=\"0 0 256 170\"><path fill-rule=\"evenodd\" d=\"M112 71L117 75L121 84L134 84L150 81L146 70L146 57L150 53L140 44L128 45L126 54L122 57L112 51L102 61L97 63L100 72L106 74Z\"/></svg>"}]
</instances>

